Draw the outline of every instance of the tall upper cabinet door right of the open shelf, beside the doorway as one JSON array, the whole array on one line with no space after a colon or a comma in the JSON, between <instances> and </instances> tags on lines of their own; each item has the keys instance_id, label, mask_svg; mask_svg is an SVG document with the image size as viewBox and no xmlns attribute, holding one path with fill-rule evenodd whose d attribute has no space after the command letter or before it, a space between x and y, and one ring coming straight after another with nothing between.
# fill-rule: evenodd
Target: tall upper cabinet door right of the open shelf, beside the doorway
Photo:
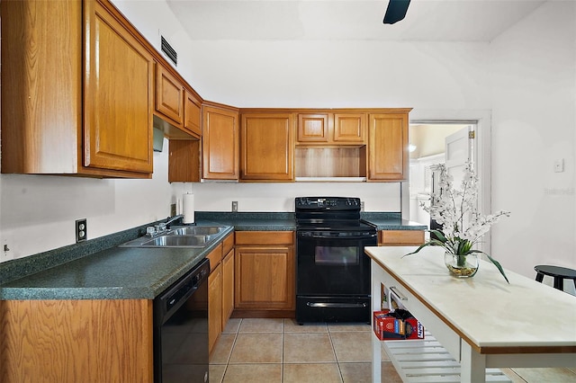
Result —
<instances>
[{"instance_id":1,"label":"tall upper cabinet door right of the open shelf, beside the doorway","mask_svg":"<svg viewBox=\"0 0 576 383\"><path fill-rule=\"evenodd\" d=\"M408 113L371 114L368 181L403 181L408 177Z\"/></svg>"}]
</instances>

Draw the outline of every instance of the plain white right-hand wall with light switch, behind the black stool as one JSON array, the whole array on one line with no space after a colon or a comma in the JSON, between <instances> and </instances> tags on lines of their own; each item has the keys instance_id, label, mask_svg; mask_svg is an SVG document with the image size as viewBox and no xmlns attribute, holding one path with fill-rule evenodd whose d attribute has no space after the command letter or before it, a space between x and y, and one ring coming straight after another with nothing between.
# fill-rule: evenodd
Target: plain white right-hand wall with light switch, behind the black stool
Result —
<instances>
[{"instance_id":1,"label":"plain white right-hand wall with light switch, behind the black stool","mask_svg":"<svg viewBox=\"0 0 576 383\"><path fill-rule=\"evenodd\" d=\"M512 212L492 231L493 254L529 277L540 263L576 269L576 3L545 3L490 55L492 206Z\"/></svg>"}]
</instances>

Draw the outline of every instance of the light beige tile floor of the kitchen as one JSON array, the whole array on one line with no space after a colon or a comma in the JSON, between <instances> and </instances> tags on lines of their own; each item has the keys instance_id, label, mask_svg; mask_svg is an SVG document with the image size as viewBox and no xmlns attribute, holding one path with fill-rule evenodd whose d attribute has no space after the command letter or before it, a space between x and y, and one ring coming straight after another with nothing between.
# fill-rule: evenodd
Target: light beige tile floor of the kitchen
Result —
<instances>
[{"instance_id":1,"label":"light beige tile floor of the kitchen","mask_svg":"<svg viewBox=\"0 0 576 383\"><path fill-rule=\"evenodd\" d=\"M211 383L363 383L372 380L370 325L230 319L210 361ZM400 383L383 351L383 382ZM576 370L504 369L514 383L576 383Z\"/></svg>"}]
</instances>

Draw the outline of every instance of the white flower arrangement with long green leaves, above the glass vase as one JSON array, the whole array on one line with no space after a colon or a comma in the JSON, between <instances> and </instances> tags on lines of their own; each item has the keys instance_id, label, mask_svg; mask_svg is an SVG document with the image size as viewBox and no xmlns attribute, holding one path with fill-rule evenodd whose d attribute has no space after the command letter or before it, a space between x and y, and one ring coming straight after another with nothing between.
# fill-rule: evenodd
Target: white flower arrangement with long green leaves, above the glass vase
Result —
<instances>
[{"instance_id":1,"label":"white flower arrangement with long green leaves, above the glass vase","mask_svg":"<svg viewBox=\"0 0 576 383\"><path fill-rule=\"evenodd\" d=\"M481 253L488 257L509 282L498 261L489 254L473 249L473 245L490 231L493 224L502 216L509 217L509 211L500 210L495 214L482 215L477 203L479 181L470 162L465 165L460 190L453 187L453 177L448 174L446 165L437 165L437 168L440 171L439 187L431 195L435 203L430 206L425 203L420 205L430 213L430 218L442 226L442 230L429 230L430 240L410 254L416 254L426 246L442 246L446 253L459 255L458 258L464 264L466 255Z\"/></svg>"}]
</instances>

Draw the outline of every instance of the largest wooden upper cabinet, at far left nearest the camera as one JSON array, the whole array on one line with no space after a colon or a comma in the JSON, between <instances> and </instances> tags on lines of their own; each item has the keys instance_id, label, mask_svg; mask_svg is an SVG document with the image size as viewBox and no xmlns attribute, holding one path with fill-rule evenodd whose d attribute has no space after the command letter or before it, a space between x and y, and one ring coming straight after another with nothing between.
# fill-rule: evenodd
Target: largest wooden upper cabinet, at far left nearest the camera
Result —
<instances>
[{"instance_id":1,"label":"largest wooden upper cabinet, at far left nearest the camera","mask_svg":"<svg viewBox=\"0 0 576 383\"><path fill-rule=\"evenodd\" d=\"M121 19L95 1L0 6L2 172L149 178L152 59Z\"/></svg>"}]
</instances>

